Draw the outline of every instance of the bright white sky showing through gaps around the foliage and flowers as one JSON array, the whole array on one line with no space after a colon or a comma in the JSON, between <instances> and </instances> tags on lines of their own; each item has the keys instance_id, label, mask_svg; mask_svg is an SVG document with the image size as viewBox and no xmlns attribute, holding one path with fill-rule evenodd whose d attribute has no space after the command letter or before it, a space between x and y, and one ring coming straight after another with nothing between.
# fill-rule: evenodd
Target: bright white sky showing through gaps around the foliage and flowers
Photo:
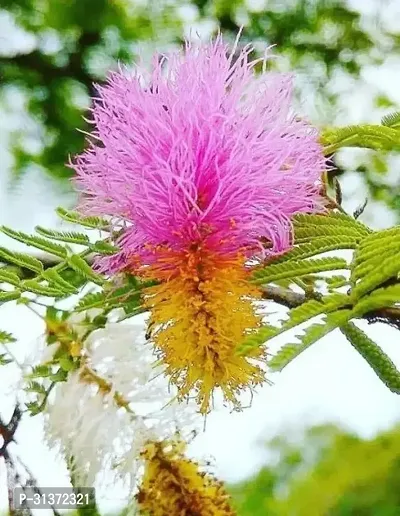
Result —
<instances>
[{"instance_id":1,"label":"bright white sky showing through gaps around the foliage and flowers","mask_svg":"<svg viewBox=\"0 0 400 516\"><path fill-rule=\"evenodd\" d=\"M257 8L260 8L261 4L262 1L258 0ZM376 6L377 2L353 0L351 4L367 11L372 9L373 5ZM399 20L398 1L381 2L381 7L383 6L387 12L385 18L388 23L393 23L396 18ZM4 23L0 16L0 27L2 21ZM193 24L195 25L194 21ZM4 35L6 32L1 33ZM32 44L29 38L25 38L15 29L9 34L13 40L10 43L12 45L29 49ZM379 69L365 69L363 87L357 89L356 95L354 90L350 90L344 96L343 120L378 121L379 112L371 109L371 96L377 91L386 92L400 105L399 77L400 60L391 59ZM340 84L337 86L340 87ZM20 100L23 114L23 102ZM20 120L10 115L0 117L0 145L3 146L0 148L0 178L4 182L8 175L7 168L11 164L10 157L5 151L7 135L10 128L16 124L20 124ZM29 122L26 121L26 124ZM28 125L26 127L29 129ZM34 134L35 128L32 127L30 130ZM34 139L30 144L34 145ZM356 164L357 152L347 153L346 159ZM398 177L398 168L396 171ZM396 180L398 181L394 178L394 181ZM348 174L342 182L345 208L349 211L364 200L365 192L361 185L356 173ZM33 230L36 225L54 226L54 208L72 202L73 198L66 194L64 187L46 179L42 171L32 170L24 176L14 191L10 192L6 188L0 190L0 224L25 231ZM385 227L393 223L387 210L376 204L367 208L364 220L375 227ZM5 239L0 238L0 244L7 243ZM400 367L398 333L381 324L365 324L362 327L367 329L368 334ZM39 318L27 308L16 307L13 303L0 308L0 328L12 332L19 339L17 344L13 344L15 354L19 357L35 346L43 331ZM279 342L282 343L286 339L287 336ZM274 348L279 342L275 339ZM10 366L1 369L0 413L5 419L13 408L12 385L15 385L17 374ZM197 457L214 457L215 471L225 480L238 480L254 472L266 458L262 442L278 432L293 434L312 424L335 422L361 435L371 436L400 421L400 397L392 394L380 382L337 331L312 346L282 373L272 376L271 379L274 386L260 389L251 408L238 414L229 414L226 411L211 414L205 433L198 436L193 443L192 453ZM25 420L17 438L18 454L29 465L41 486L68 485L65 469L43 445L40 417ZM5 484L5 470L0 466L0 510L7 507ZM121 503L118 503L120 496L121 493L117 491L98 493L101 510L115 509L116 505ZM46 513L40 514L45 516Z\"/></svg>"}]
</instances>

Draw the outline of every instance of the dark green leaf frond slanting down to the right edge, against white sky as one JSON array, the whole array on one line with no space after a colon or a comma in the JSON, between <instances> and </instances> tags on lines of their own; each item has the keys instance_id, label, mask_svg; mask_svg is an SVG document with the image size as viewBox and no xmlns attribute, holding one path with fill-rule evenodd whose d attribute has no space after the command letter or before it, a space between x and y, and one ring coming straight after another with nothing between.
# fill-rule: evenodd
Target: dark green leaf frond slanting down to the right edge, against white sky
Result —
<instances>
[{"instance_id":1,"label":"dark green leaf frond slanting down to the right edge, against white sky","mask_svg":"<svg viewBox=\"0 0 400 516\"><path fill-rule=\"evenodd\" d=\"M400 372L386 353L351 322L343 325L341 331L350 344L365 358L382 382L392 392L400 394Z\"/></svg>"}]
</instances>

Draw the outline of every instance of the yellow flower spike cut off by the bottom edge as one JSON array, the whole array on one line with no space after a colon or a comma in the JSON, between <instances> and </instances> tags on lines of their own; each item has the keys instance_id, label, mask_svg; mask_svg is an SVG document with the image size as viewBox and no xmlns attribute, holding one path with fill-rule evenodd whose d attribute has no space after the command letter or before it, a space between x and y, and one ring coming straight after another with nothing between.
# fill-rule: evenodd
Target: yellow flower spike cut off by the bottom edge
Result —
<instances>
[{"instance_id":1,"label":"yellow flower spike cut off by the bottom edge","mask_svg":"<svg viewBox=\"0 0 400 516\"><path fill-rule=\"evenodd\" d=\"M234 516L221 482L184 456L181 442L149 443L136 500L146 516Z\"/></svg>"}]
</instances>

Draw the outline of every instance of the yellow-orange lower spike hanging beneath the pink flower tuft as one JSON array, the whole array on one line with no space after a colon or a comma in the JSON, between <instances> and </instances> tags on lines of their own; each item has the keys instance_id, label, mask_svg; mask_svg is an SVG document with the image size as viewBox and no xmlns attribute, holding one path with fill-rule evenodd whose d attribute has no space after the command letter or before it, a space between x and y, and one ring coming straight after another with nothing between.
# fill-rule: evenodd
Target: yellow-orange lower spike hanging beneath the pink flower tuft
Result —
<instances>
[{"instance_id":1,"label":"yellow-orange lower spike hanging beneath the pink flower tuft","mask_svg":"<svg viewBox=\"0 0 400 516\"><path fill-rule=\"evenodd\" d=\"M163 252L146 275L161 280L147 290L152 338L180 397L195 392L202 413L215 388L240 408L239 394L264 380L258 348L238 356L243 339L259 328L254 301L259 292L246 281L242 257L222 257L193 246Z\"/></svg>"}]
</instances>

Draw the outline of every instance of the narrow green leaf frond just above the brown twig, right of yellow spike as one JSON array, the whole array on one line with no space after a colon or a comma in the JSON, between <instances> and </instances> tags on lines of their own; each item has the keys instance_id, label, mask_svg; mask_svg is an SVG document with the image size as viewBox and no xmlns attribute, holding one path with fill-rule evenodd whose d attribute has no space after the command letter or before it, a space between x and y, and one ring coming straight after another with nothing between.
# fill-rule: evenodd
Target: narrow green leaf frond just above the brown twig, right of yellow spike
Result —
<instances>
[{"instance_id":1,"label":"narrow green leaf frond just above the brown twig, right of yellow spike","mask_svg":"<svg viewBox=\"0 0 400 516\"><path fill-rule=\"evenodd\" d=\"M311 273L347 269L348 264L342 258L318 258L302 261L288 261L276 265L267 265L252 274L252 283L261 285L286 278L299 278Z\"/></svg>"}]
</instances>

